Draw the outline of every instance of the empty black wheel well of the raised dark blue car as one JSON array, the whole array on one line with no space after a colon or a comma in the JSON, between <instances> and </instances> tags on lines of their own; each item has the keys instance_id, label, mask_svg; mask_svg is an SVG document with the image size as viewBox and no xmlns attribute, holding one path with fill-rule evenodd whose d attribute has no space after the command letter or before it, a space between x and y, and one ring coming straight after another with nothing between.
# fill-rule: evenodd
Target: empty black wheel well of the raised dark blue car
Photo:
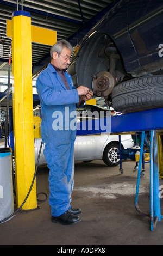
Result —
<instances>
[{"instance_id":1,"label":"empty black wheel well of the raised dark blue car","mask_svg":"<svg viewBox=\"0 0 163 256\"><path fill-rule=\"evenodd\" d=\"M79 52L79 58L76 58L77 84L86 84L92 89L92 77L101 71L110 70L111 53L118 55L120 58L116 60L117 71L113 74L117 78L117 82L123 80L124 68L123 60L117 47L108 34L95 33L84 42ZM111 71L112 72L112 71ZM126 71L125 71L126 72Z\"/></svg>"}]
</instances>

